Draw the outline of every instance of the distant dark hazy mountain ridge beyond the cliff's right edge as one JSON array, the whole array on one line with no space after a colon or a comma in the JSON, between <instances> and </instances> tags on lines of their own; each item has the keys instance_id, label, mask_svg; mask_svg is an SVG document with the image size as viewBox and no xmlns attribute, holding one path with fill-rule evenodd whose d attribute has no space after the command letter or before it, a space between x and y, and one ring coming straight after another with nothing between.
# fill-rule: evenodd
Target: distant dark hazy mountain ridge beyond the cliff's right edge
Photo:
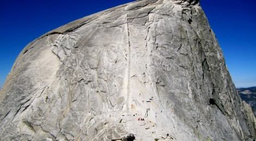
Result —
<instances>
[{"instance_id":1,"label":"distant dark hazy mountain ridge beyond the cliff's right edge","mask_svg":"<svg viewBox=\"0 0 256 141\"><path fill-rule=\"evenodd\" d=\"M251 105L256 116L256 87L236 88L241 99Z\"/></svg>"}]
</instances>

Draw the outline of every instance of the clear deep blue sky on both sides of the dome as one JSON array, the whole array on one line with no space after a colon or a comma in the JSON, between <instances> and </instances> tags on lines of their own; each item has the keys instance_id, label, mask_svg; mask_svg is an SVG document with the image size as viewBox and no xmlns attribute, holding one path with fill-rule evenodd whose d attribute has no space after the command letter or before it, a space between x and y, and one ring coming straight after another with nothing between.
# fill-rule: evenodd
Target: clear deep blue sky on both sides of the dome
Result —
<instances>
[{"instance_id":1,"label":"clear deep blue sky on both sides of the dome","mask_svg":"<svg viewBox=\"0 0 256 141\"><path fill-rule=\"evenodd\" d=\"M55 28L132 0L0 0L0 87L29 43ZM201 0L236 87L256 86L255 0Z\"/></svg>"}]
</instances>

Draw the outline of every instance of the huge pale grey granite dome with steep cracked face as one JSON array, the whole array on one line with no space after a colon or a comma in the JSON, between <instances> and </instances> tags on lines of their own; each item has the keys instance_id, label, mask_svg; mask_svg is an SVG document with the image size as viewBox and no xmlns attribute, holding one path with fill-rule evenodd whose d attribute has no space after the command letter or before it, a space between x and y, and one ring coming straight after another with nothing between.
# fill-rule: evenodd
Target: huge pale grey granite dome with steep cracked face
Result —
<instances>
[{"instance_id":1,"label":"huge pale grey granite dome with steep cracked face","mask_svg":"<svg viewBox=\"0 0 256 141\"><path fill-rule=\"evenodd\" d=\"M192 0L136 1L42 35L17 57L0 107L1 140L256 137Z\"/></svg>"}]
</instances>

